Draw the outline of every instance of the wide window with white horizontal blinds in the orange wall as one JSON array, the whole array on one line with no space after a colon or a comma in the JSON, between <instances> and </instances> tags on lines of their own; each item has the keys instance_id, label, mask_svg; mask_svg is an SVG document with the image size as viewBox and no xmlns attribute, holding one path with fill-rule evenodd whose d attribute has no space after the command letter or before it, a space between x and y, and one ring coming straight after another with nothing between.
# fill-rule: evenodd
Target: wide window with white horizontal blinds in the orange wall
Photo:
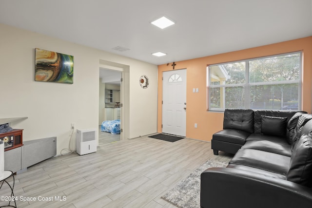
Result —
<instances>
[{"instance_id":1,"label":"wide window with white horizontal blinds in the orange wall","mask_svg":"<svg viewBox=\"0 0 312 208\"><path fill-rule=\"evenodd\" d=\"M208 110L301 110L301 52L207 67Z\"/></svg>"}]
</instances>

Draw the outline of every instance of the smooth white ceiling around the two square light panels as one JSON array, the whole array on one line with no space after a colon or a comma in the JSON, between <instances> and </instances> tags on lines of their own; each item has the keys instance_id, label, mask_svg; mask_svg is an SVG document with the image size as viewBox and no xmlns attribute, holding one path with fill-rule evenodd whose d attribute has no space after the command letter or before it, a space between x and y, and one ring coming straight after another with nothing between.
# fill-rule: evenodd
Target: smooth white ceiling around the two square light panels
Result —
<instances>
[{"instance_id":1,"label":"smooth white ceiling around the two square light panels","mask_svg":"<svg viewBox=\"0 0 312 208\"><path fill-rule=\"evenodd\" d=\"M159 65L312 36L312 0L0 0L0 23Z\"/></svg>"}]
</instances>

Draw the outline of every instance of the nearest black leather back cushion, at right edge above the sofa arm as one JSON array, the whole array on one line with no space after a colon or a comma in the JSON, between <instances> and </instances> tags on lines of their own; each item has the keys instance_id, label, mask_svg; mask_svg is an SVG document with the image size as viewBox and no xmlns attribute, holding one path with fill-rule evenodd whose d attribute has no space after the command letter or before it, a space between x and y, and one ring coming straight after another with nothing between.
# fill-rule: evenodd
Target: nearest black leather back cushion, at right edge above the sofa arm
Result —
<instances>
[{"instance_id":1,"label":"nearest black leather back cushion, at right edge above the sofa arm","mask_svg":"<svg viewBox=\"0 0 312 208\"><path fill-rule=\"evenodd\" d=\"M286 179L302 186L312 185L312 138L303 134L292 151Z\"/></svg>"}]
</instances>

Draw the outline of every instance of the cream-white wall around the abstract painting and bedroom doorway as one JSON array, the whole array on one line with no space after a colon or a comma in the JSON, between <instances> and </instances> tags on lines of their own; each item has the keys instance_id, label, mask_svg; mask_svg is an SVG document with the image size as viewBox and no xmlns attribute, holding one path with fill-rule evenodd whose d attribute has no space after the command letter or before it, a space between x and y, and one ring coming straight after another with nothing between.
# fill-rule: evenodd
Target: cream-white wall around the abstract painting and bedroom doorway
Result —
<instances>
[{"instance_id":1,"label":"cream-white wall around the abstract painting and bedroom doorway","mask_svg":"<svg viewBox=\"0 0 312 208\"><path fill-rule=\"evenodd\" d=\"M74 84L34 81L35 48L74 56ZM98 129L103 60L129 66L124 73L129 82L125 90L129 92L127 138L156 132L156 65L4 24L0 24L0 118L27 116L11 123L13 128L24 129L23 141L57 136L59 154L68 147L72 122L77 129ZM141 75L150 78L148 89L140 87Z\"/></svg>"}]
</instances>

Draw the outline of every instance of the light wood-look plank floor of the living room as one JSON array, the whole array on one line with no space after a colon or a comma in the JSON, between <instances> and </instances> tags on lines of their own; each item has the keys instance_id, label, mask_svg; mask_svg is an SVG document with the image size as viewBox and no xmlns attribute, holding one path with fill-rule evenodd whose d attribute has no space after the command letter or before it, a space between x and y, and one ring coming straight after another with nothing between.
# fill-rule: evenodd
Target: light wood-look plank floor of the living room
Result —
<instances>
[{"instance_id":1,"label":"light wood-look plank floor of the living room","mask_svg":"<svg viewBox=\"0 0 312 208\"><path fill-rule=\"evenodd\" d=\"M176 208L160 197L208 159L229 162L231 156L214 155L210 142L144 136L40 162L15 175L14 194L18 208ZM4 184L0 196L7 192ZM44 197L50 198L39 201Z\"/></svg>"}]
</instances>

